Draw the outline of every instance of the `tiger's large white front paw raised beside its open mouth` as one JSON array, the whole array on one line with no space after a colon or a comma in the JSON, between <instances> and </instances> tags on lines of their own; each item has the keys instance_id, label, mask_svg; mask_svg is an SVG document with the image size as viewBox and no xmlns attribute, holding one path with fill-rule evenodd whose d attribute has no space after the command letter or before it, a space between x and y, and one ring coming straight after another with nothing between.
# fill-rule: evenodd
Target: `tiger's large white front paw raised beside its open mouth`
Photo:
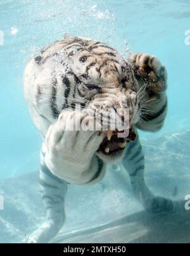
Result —
<instances>
[{"instance_id":1,"label":"tiger's large white front paw raised beside its open mouth","mask_svg":"<svg viewBox=\"0 0 190 256\"><path fill-rule=\"evenodd\" d=\"M95 128L94 118L80 112L61 113L56 124L49 127L45 159L55 176L76 176L76 172L79 174L89 169L103 141L103 135L99 132L101 126L96 124Z\"/></svg>"}]
</instances>

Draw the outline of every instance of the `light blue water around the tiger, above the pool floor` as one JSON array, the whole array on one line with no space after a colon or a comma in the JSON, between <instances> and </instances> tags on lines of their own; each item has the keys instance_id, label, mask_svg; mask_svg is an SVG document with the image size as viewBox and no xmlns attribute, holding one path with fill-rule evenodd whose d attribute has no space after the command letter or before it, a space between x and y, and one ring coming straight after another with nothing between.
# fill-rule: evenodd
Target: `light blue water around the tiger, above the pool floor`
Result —
<instances>
[{"instance_id":1,"label":"light blue water around the tiger, above the pool floor","mask_svg":"<svg viewBox=\"0 0 190 256\"><path fill-rule=\"evenodd\" d=\"M23 69L42 46L63 34L93 37L120 52L155 54L168 70L168 117L143 141L183 131L190 125L189 0L1 0L0 178L37 170L41 137L23 98Z\"/></svg>"}]
</instances>

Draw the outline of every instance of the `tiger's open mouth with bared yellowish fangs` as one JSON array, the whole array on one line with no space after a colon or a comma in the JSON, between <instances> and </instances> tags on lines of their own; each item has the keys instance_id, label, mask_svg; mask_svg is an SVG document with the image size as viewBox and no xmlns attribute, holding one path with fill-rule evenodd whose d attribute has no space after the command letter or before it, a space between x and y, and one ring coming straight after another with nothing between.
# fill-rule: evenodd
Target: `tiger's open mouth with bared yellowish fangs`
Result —
<instances>
[{"instance_id":1,"label":"tiger's open mouth with bared yellowish fangs","mask_svg":"<svg viewBox=\"0 0 190 256\"><path fill-rule=\"evenodd\" d=\"M124 131L122 131L122 133L123 132ZM118 130L107 131L105 139L103 139L103 142L99 146L99 151L101 151L104 155L110 156L113 153L125 150L126 144L133 142L136 139L134 127L129 129L129 136L127 138L118 138L118 133L120 133Z\"/></svg>"}]
</instances>

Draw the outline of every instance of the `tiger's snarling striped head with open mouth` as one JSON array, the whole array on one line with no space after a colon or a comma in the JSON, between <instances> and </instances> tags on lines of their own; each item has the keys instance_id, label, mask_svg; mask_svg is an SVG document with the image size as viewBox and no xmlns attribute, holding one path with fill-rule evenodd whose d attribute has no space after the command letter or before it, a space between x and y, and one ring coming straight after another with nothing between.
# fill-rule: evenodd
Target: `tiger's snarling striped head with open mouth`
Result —
<instances>
[{"instance_id":1,"label":"tiger's snarling striped head with open mouth","mask_svg":"<svg viewBox=\"0 0 190 256\"><path fill-rule=\"evenodd\" d=\"M133 127L141 116L139 87L130 64L110 46L79 37L68 42L64 54L66 59L62 64L72 76L72 103L82 103L87 115L96 113L105 131L105 139L97 154L106 162L120 159L127 141L134 139ZM128 121L126 129L130 134L125 138L118 136L124 133L124 128L117 124L115 129L110 128L116 112L122 124ZM124 120L124 113L129 113L128 120Z\"/></svg>"}]
</instances>

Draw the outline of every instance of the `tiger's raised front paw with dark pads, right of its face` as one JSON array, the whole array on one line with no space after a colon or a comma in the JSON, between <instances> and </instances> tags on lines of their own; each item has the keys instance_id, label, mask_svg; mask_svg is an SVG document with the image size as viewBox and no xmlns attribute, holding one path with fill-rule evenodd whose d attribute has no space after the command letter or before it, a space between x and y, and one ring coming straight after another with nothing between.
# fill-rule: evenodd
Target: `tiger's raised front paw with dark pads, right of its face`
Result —
<instances>
[{"instance_id":1,"label":"tiger's raised front paw with dark pads, right of its face","mask_svg":"<svg viewBox=\"0 0 190 256\"><path fill-rule=\"evenodd\" d=\"M167 89L167 70L158 58L146 53L134 53L129 56L129 61L136 79L141 86L146 85L152 98Z\"/></svg>"}]
</instances>

